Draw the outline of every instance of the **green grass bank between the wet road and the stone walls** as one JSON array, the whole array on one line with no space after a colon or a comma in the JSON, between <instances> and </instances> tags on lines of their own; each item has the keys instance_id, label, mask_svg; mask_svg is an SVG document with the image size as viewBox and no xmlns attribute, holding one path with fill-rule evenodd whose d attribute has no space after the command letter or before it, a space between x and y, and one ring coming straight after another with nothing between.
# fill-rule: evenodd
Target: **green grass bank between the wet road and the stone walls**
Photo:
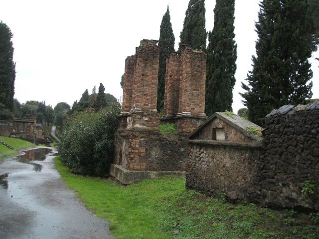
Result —
<instances>
[{"instance_id":1,"label":"green grass bank between the wet road and the stone walls","mask_svg":"<svg viewBox=\"0 0 319 239\"><path fill-rule=\"evenodd\" d=\"M187 190L181 177L121 186L112 179L77 176L55 158L66 185L85 206L110 222L118 239L316 239L319 214L234 205ZM316 224L315 224L316 223Z\"/></svg>"}]
</instances>

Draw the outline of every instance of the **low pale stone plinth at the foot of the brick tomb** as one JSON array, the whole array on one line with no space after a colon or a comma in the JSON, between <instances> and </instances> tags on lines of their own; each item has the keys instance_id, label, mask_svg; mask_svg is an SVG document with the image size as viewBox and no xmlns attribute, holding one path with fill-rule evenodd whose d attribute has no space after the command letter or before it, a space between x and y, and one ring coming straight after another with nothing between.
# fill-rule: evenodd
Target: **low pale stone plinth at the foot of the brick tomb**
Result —
<instances>
[{"instance_id":1,"label":"low pale stone plinth at the foot of the brick tomb","mask_svg":"<svg viewBox=\"0 0 319 239\"><path fill-rule=\"evenodd\" d=\"M112 163L110 174L122 184L133 184L143 179L161 177L164 175L174 175L185 177L185 171L131 171L123 169L121 165Z\"/></svg>"}]
</instances>

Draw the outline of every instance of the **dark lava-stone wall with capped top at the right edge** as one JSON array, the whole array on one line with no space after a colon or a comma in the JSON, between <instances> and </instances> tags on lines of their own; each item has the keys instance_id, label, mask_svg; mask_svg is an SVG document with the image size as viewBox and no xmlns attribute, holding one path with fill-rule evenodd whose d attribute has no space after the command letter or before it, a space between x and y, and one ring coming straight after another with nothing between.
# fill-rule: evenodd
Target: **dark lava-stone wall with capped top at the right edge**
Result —
<instances>
[{"instance_id":1,"label":"dark lava-stone wall with capped top at the right edge","mask_svg":"<svg viewBox=\"0 0 319 239\"><path fill-rule=\"evenodd\" d=\"M265 148L250 198L266 206L319 210L319 102L283 106L266 117ZM302 196L304 182L315 193Z\"/></svg>"}]
</instances>

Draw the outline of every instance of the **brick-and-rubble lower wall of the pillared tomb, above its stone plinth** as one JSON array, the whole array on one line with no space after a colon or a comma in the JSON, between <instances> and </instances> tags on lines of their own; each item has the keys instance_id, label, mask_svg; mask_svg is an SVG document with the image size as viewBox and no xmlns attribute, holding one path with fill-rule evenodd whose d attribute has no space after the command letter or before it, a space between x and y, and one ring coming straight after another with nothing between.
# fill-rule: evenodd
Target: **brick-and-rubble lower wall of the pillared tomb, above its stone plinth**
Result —
<instances>
[{"instance_id":1,"label":"brick-and-rubble lower wall of the pillared tomb, above its stone plinth","mask_svg":"<svg viewBox=\"0 0 319 239\"><path fill-rule=\"evenodd\" d=\"M132 171L184 171L187 140L163 136L151 130L118 130L115 134L115 164Z\"/></svg>"}]
</instances>

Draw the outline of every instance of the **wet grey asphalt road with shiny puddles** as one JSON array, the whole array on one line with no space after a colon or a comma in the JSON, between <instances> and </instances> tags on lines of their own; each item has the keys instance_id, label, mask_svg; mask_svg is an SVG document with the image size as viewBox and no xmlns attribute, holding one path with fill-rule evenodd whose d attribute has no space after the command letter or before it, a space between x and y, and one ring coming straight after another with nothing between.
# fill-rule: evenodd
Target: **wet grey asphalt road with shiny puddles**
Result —
<instances>
[{"instance_id":1,"label":"wet grey asphalt road with shiny puddles","mask_svg":"<svg viewBox=\"0 0 319 239\"><path fill-rule=\"evenodd\" d=\"M114 238L38 151L0 162L0 238Z\"/></svg>"}]
</instances>

